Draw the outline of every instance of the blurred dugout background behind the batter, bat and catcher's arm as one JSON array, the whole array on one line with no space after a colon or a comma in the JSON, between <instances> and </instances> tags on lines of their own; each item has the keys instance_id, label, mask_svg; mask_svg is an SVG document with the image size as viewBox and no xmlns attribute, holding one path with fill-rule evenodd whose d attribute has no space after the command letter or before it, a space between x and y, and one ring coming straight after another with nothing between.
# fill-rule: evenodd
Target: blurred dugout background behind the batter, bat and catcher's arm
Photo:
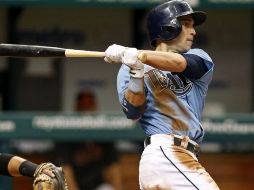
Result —
<instances>
[{"instance_id":1,"label":"blurred dugout background behind the batter, bat and catcher's arm","mask_svg":"<svg viewBox=\"0 0 254 190\"><path fill-rule=\"evenodd\" d=\"M151 49L160 0L0 0L0 42L105 51ZM208 13L194 46L215 63L200 161L222 190L254 189L254 1L189 0ZM118 103L120 65L101 58L0 57L0 152L63 165L71 190L133 190L144 135ZM31 179L0 177L0 190Z\"/></svg>"}]
</instances>

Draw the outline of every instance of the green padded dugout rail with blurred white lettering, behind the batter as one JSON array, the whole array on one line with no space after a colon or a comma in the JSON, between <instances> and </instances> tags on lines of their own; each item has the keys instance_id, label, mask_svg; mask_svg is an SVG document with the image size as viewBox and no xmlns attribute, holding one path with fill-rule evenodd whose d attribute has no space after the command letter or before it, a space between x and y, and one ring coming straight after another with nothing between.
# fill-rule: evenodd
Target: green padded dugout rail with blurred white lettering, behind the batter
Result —
<instances>
[{"instance_id":1,"label":"green padded dugout rail with blurred white lettering, behind the batter","mask_svg":"<svg viewBox=\"0 0 254 190\"><path fill-rule=\"evenodd\" d=\"M254 142L254 116L246 114L203 118L205 141ZM1 113L0 139L140 140L141 128L121 113Z\"/></svg>"}]
</instances>

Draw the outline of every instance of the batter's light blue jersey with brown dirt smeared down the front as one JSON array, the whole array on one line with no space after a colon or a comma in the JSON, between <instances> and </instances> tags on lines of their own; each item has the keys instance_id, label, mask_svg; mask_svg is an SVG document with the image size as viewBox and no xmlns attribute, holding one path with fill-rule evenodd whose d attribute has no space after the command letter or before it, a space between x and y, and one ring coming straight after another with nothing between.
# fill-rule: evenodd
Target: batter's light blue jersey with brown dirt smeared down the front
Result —
<instances>
[{"instance_id":1,"label":"batter's light blue jersey with brown dirt smeared down the front","mask_svg":"<svg viewBox=\"0 0 254 190\"><path fill-rule=\"evenodd\" d=\"M200 143L204 136L201 115L208 85L212 80L214 64L201 49L186 54L202 58L208 71L199 79L188 79L145 65L146 106L139 123L147 136L177 134L189 136ZM130 80L129 67L122 65L117 77L119 101L122 104Z\"/></svg>"}]
</instances>

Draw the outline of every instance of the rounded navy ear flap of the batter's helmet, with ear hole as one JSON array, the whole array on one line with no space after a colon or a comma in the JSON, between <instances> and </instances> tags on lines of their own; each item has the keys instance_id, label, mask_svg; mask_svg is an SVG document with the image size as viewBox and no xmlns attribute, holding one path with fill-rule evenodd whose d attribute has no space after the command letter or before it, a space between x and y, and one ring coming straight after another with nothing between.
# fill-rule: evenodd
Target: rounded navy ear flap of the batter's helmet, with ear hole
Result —
<instances>
[{"instance_id":1,"label":"rounded navy ear flap of the batter's helmet, with ear hole","mask_svg":"<svg viewBox=\"0 0 254 190\"><path fill-rule=\"evenodd\" d=\"M182 25L180 21L175 18L172 19L169 24L161 26L161 33L159 37L162 40L172 40L176 38L182 31Z\"/></svg>"}]
</instances>

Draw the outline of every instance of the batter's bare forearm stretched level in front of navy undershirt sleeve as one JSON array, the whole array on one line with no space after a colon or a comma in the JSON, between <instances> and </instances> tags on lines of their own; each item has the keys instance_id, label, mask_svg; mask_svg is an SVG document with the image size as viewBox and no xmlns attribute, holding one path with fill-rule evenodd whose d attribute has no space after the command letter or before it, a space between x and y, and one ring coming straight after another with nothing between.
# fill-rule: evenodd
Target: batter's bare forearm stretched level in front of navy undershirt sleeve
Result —
<instances>
[{"instance_id":1,"label":"batter's bare forearm stretched level in front of navy undershirt sleeve","mask_svg":"<svg viewBox=\"0 0 254 190\"><path fill-rule=\"evenodd\" d=\"M146 54L142 62L154 68L170 72L182 72L186 68L186 60L179 53L149 50L139 52Z\"/></svg>"}]
</instances>

